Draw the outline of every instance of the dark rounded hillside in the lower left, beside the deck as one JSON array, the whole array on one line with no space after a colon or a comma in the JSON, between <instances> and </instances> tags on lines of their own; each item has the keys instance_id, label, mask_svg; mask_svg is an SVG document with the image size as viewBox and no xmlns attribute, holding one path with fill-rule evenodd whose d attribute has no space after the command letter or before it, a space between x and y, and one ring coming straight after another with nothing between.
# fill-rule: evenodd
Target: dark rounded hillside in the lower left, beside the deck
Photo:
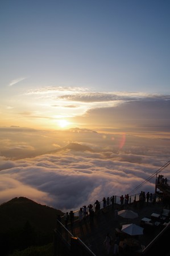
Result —
<instances>
[{"instance_id":1,"label":"dark rounded hillside in the lower left, beside the deck","mask_svg":"<svg viewBox=\"0 0 170 256\"><path fill-rule=\"evenodd\" d=\"M0 251L2 255L13 249L43 245L53 241L53 229L60 210L35 203L26 197L0 205ZM8 248L8 251L7 251Z\"/></svg>"}]
</instances>

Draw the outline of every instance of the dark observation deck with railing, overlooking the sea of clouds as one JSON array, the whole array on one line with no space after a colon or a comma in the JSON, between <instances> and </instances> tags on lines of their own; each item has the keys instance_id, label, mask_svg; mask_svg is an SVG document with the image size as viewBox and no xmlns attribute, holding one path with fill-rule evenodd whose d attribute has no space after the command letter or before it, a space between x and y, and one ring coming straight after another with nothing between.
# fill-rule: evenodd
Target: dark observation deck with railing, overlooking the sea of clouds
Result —
<instances>
[{"instance_id":1,"label":"dark observation deck with railing, overlooking the sea of clouds","mask_svg":"<svg viewBox=\"0 0 170 256\"><path fill-rule=\"evenodd\" d=\"M159 191L157 191L159 189ZM169 191L168 184L157 184L155 191L157 193L156 203L147 204L145 201L143 205L139 203L139 195L135 195L131 197L130 203L127 205L127 209L133 210L138 213L138 217L132 220L125 220L124 218L118 216L118 219L115 220L114 213L115 209L122 210L125 206L120 205L119 196L115 197L115 204L109 205L109 207L102 208L98 213L94 214L93 223L91 223L89 214L88 216L79 221L78 220L78 211L74 212L74 222L73 225L71 223L68 224L68 228L66 229L64 226L64 220L61 218L57 220L57 225L55 229L55 256L105 256L108 255L105 245L103 242L105 241L107 233L113 237L113 241L116 238L116 229L121 230L122 225L133 223L136 225L141 225L142 219L152 219L152 228L151 230L147 230L144 234L138 236L139 243L141 245L141 249L138 248L137 251L130 251L130 254L126 255L151 255L160 251L159 255L166 255L167 250L169 252L169 246L166 245L165 239L163 237L167 237L170 235L170 218L168 217L166 220L154 219L152 216L161 216L163 212L164 204L163 200L161 200L163 195L167 195ZM161 193L160 193L161 191ZM168 194L170 195L170 193ZM134 198L136 201L134 202ZM102 206L102 202L100 202ZM93 205L94 207L94 205ZM154 214L153 214L154 213ZM164 225L167 223L167 225ZM159 242L157 242L159 241ZM160 246L161 241L161 246ZM154 243L154 245L153 245ZM110 254L113 255L114 245L111 246ZM119 252L119 255L125 255L124 251Z\"/></svg>"}]
</instances>

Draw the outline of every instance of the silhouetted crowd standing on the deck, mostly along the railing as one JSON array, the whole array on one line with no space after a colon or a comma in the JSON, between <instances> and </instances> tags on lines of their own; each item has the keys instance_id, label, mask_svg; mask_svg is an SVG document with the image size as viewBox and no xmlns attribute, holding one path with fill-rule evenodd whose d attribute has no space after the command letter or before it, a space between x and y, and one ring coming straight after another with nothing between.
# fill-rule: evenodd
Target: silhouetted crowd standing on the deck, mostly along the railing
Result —
<instances>
[{"instance_id":1,"label":"silhouetted crowd standing on the deck, mostly along the railing","mask_svg":"<svg viewBox=\"0 0 170 256\"><path fill-rule=\"evenodd\" d=\"M152 192L144 192L141 191L139 194L139 199L138 199L138 207L146 207L149 204L155 204L156 202L156 194ZM115 204L116 203L116 204ZM109 208L112 208L114 210L114 221L118 221L118 207L115 207L115 205L119 204L121 206L121 209L128 209L128 204L135 203L136 200L131 201L130 196L128 193L123 196L119 196L119 202L118 198L115 198L115 196L111 197L103 197L101 201L96 200L94 204L89 204L88 206L84 205L78 210L78 216L76 214L76 219L80 222L82 220L86 220L88 218L89 224L93 225L94 221L94 216L98 216L98 214L102 211L105 211ZM71 211L70 213L65 213L64 215L64 220L65 220L65 227L68 228L68 222L71 222L71 228L73 228L73 221L74 221L74 213ZM103 241L103 246L105 246L106 253L109 254L110 250L113 251L113 255L117 255L119 253L119 237L114 237L113 238L110 236L109 233L107 233L105 240Z\"/></svg>"}]
</instances>

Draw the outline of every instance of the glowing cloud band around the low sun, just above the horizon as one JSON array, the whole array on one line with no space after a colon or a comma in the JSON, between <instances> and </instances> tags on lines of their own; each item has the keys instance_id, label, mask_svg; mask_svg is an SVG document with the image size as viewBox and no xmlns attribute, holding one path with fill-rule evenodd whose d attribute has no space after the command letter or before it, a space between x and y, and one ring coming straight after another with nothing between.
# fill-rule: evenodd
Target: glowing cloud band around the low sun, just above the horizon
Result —
<instances>
[{"instance_id":1,"label":"glowing cloud band around the low sun, just above the horizon","mask_svg":"<svg viewBox=\"0 0 170 256\"><path fill-rule=\"evenodd\" d=\"M16 86L17 87L17 86ZM169 95L140 92L93 92L87 88L41 86L8 90L1 101L2 125L60 129L60 119L69 127L88 129L148 129L168 131ZM10 123L10 125L9 125Z\"/></svg>"}]
</instances>

